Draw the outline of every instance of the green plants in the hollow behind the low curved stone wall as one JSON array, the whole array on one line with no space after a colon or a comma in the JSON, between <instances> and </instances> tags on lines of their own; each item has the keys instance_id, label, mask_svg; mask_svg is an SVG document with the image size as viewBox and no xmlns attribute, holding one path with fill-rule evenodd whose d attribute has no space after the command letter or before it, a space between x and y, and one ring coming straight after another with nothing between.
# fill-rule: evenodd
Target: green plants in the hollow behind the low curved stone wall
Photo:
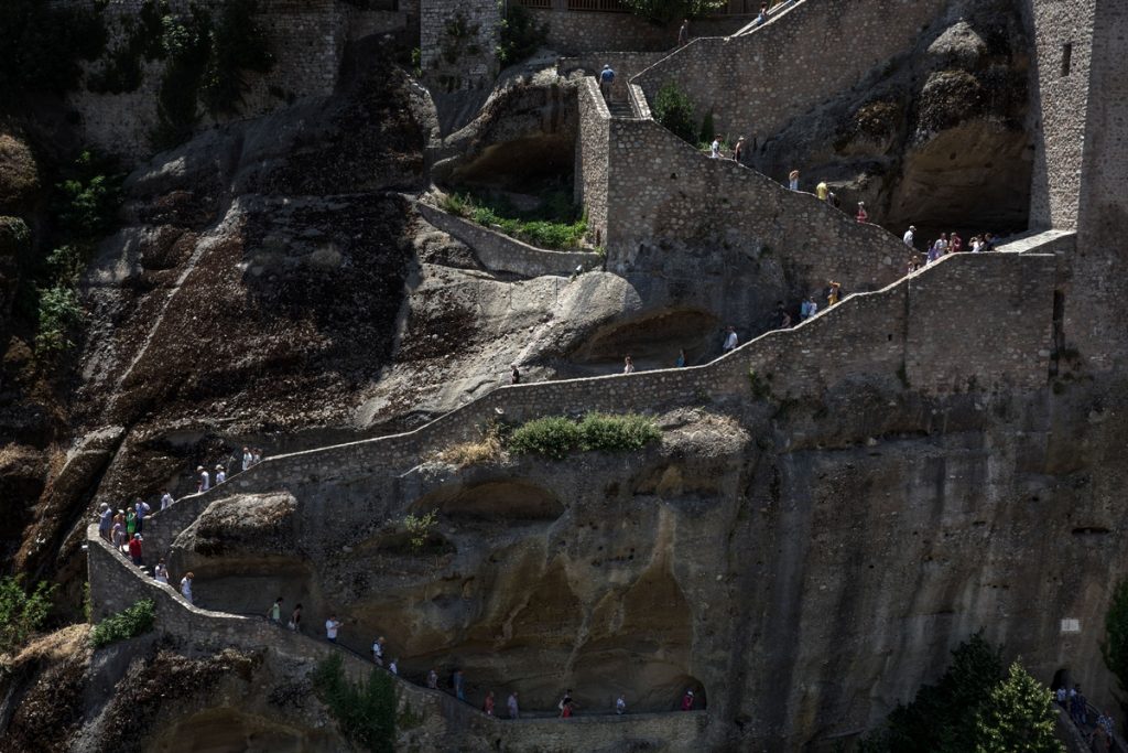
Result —
<instances>
[{"instance_id":1,"label":"green plants in the hollow behind the low curved stone wall","mask_svg":"<svg viewBox=\"0 0 1128 753\"><path fill-rule=\"evenodd\" d=\"M564 191L545 193L536 209L527 211L504 194L452 193L443 196L440 208L543 248L579 247L588 233L587 216Z\"/></svg>"}]
</instances>

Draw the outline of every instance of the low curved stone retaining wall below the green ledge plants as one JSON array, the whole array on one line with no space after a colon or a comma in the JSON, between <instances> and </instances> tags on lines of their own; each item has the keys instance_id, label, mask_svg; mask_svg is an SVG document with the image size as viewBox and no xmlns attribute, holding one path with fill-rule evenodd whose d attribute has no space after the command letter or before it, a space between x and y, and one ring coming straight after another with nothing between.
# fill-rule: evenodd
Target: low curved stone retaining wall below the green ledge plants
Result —
<instances>
[{"instance_id":1,"label":"low curved stone retaining wall below the green ledge plants","mask_svg":"<svg viewBox=\"0 0 1128 753\"><path fill-rule=\"evenodd\" d=\"M521 277L543 274L567 277L576 266L592 270L603 263L599 254L537 248L422 202L416 202L415 208L428 222L473 248L478 261L494 272L510 272Z\"/></svg>"}]
</instances>

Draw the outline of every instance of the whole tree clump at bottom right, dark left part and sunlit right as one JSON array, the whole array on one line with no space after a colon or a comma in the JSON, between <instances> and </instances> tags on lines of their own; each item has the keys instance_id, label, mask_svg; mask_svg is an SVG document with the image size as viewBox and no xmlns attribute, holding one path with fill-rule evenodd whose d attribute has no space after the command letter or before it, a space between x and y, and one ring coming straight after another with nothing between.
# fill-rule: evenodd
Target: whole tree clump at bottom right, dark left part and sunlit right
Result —
<instances>
[{"instance_id":1,"label":"whole tree clump at bottom right, dark left part and sunlit right","mask_svg":"<svg viewBox=\"0 0 1128 753\"><path fill-rule=\"evenodd\" d=\"M1058 753L1048 688L1015 662L1004 671L999 649L976 633L952 651L935 685L898 706L885 726L858 745L861 753L942 751Z\"/></svg>"}]
</instances>

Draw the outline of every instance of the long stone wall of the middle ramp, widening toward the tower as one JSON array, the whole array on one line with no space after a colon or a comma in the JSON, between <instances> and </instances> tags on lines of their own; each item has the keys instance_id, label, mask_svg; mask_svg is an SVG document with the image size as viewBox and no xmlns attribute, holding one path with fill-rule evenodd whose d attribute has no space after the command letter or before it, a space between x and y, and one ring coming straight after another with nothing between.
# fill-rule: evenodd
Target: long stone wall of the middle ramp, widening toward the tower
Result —
<instances>
[{"instance_id":1,"label":"long stone wall of the middle ramp, widening toward the tower","mask_svg":"<svg viewBox=\"0 0 1128 753\"><path fill-rule=\"evenodd\" d=\"M1036 389L1048 375L1056 275L1050 254L948 256L706 366L500 387L415 431L267 458L224 489L263 492L398 475L428 454L475 437L477 427L495 418L655 411L693 403L700 394L750 399L749 368L785 375L778 397L818 400L852 376L896 380L902 369L923 394ZM201 500L191 496L177 505L185 502Z\"/></svg>"}]
</instances>

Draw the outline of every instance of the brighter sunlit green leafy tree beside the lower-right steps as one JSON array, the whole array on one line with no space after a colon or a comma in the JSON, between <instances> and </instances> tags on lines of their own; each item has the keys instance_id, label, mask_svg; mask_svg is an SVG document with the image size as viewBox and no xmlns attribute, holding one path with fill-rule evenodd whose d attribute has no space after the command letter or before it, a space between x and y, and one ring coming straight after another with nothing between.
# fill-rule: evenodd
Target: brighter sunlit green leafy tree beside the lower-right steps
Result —
<instances>
[{"instance_id":1,"label":"brighter sunlit green leafy tree beside the lower-right steps","mask_svg":"<svg viewBox=\"0 0 1128 753\"><path fill-rule=\"evenodd\" d=\"M1050 689L1015 662L976 713L976 753L1061 753Z\"/></svg>"}]
</instances>

